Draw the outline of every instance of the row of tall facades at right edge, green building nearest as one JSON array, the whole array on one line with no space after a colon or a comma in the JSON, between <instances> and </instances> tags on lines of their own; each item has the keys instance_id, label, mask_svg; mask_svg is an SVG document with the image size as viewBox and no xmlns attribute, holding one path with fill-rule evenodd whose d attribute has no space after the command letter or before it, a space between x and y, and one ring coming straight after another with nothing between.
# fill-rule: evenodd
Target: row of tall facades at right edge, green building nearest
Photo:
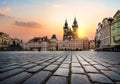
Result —
<instances>
[{"instance_id":1,"label":"row of tall facades at right edge, green building nearest","mask_svg":"<svg viewBox=\"0 0 120 84\"><path fill-rule=\"evenodd\" d=\"M104 18L100 25L101 29L99 31L98 25L95 37L96 50L120 51L120 10L113 18Z\"/></svg>"}]
</instances>

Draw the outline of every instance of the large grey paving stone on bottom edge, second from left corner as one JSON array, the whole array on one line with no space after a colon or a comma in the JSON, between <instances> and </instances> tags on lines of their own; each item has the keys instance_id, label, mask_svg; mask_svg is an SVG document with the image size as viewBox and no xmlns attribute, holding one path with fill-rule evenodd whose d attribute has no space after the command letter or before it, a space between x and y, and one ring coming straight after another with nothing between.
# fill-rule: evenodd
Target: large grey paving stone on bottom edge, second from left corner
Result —
<instances>
[{"instance_id":1,"label":"large grey paving stone on bottom edge, second from left corner","mask_svg":"<svg viewBox=\"0 0 120 84\"><path fill-rule=\"evenodd\" d=\"M50 75L50 71L40 71L27 79L23 84L43 84Z\"/></svg>"}]
</instances>

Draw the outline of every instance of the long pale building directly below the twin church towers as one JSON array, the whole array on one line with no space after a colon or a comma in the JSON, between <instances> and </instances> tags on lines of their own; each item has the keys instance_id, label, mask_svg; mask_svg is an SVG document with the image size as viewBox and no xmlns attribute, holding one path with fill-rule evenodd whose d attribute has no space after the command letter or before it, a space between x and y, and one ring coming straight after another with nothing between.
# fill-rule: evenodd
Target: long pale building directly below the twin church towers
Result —
<instances>
[{"instance_id":1,"label":"long pale building directly below the twin church towers","mask_svg":"<svg viewBox=\"0 0 120 84\"><path fill-rule=\"evenodd\" d=\"M88 50L89 40L86 39L71 39L58 41L58 50L62 51L75 51L75 50Z\"/></svg>"}]
</instances>

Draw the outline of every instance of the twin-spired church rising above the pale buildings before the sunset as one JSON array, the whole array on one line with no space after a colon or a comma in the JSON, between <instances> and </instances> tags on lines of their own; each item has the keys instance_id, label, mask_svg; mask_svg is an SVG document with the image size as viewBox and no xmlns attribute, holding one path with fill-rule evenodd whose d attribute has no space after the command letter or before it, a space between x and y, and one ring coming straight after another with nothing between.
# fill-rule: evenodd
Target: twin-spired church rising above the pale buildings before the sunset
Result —
<instances>
[{"instance_id":1,"label":"twin-spired church rising above the pale buildings before the sunset","mask_svg":"<svg viewBox=\"0 0 120 84\"><path fill-rule=\"evenodd\" d=\"M63 27L63 40L78 39L78 23L76 18L74 18L72 29L69 28L67 20Z\"/></svg>"}]
</instances>

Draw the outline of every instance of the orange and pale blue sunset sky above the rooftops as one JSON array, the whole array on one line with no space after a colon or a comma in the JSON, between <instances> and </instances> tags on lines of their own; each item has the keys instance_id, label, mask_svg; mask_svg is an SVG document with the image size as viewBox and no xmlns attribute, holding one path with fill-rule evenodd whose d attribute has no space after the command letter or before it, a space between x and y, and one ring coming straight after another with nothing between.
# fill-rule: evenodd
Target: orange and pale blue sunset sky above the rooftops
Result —
<instances>
[{"instance_id":1,"label":"orange and pale blue sunset sky above the rooftops","mask_svg":"<svg viewBox=\"0 0 120 84\"><path fill-rule=\"evenodd\" d=\"M63 37L65 20L76 17L79 36L94 39L99 22L120 8L120 0L0 0L0 32L28 41L56 34Z\"/></svg>"}]
</instances>

